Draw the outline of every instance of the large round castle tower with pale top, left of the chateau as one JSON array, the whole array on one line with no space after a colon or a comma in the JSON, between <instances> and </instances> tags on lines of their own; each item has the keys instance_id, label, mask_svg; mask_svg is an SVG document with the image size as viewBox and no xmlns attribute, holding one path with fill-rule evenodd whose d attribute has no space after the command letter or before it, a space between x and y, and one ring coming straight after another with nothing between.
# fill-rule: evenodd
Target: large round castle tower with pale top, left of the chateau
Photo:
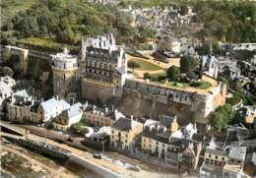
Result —
<instances>
[{"instance_id":1,"label":"large round castle tower with pale top, left of the chateau","mask_svg":"<svg viewBox=\"0 0 256 178\"><path fill-rule=\"evenodd\" d=\"M67 48L52 57L53 92L70 103L75 102L79 88L77 56L70 55Z\"/></svg>"}]
</instances>

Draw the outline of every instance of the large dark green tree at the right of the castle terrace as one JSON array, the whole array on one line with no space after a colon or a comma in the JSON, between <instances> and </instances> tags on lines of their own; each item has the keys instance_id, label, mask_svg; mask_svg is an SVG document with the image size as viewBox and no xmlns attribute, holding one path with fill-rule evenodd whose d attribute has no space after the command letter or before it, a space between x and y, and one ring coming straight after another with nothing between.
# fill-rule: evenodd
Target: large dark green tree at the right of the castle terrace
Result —
<instances>
[{"instance_id":1,"label":"large dark green tree at the right of the castle terrace","mask_svg":"<svg viewBox=\"0 0 256 178\"><path fill-rule=\"evenodd\" d=\"M198 61L191 56L182 56L180 59L180 71L181 73L185 73L187 77L194 78L196 70L198 66Z\"/></svg>"}]
</instances>

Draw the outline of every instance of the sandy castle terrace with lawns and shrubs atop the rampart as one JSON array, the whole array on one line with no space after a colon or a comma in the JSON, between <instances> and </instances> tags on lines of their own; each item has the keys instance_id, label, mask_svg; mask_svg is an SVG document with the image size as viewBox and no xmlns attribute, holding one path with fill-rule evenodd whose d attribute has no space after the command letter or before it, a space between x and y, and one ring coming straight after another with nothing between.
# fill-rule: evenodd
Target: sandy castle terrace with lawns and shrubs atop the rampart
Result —
<instances>
[{"instance_id":1,"label":"sandy castle terrace with lawns and shrubs atop the rampart","mask_svg":"<svg viewBox=\"0 0 256 178\"><path fill-rule=\"evenodd\" d=\"M198 92L201 94L209 94L212 89L218 86L216 80L204 76L201 81L177 82L171 81L166 75L166 71L171 66L179 67L179 59L173 59L169 63L162 63L155 60L151 56L149 59L127 56L128 61L139 64L140 67L135 68L132 74L132 80L147 83L152 86L159 86L168 89L178 89L189 92ZM147 77L145 76L147 74ZM145 78L146 77L146 78Z\"/></svg>"}]
</instances>

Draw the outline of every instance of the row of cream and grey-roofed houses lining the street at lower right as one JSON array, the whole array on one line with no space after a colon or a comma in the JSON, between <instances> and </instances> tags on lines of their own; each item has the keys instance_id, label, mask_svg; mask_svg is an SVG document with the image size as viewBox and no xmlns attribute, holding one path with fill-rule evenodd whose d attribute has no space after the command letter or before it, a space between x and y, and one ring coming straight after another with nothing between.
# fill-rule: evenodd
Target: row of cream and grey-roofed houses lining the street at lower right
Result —
<instances>
[{"instance_id":1,"label":"row of cream and grey-roofed houses lining the street at lower right","mask_svg":"<svg viewBox=\"0 0 256 178\"><path fill-rule=\"evenodd\" d=\"M255 130L238 126L221 136L205 136L197 133L195 125L180 127L176 117L164 115L160 121L148 119L144 124L120 118L111 127L110 148L203 177L238 178L245 175L244 166L253 162L255 137Z\"/></svg>"}]
</instances>

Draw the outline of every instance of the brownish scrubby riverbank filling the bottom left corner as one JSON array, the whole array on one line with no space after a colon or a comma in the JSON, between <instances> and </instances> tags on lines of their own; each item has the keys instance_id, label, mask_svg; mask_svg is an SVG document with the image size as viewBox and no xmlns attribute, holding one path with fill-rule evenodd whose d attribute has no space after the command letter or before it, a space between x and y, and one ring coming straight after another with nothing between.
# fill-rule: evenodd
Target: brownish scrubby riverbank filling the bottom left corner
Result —
<instances>
[{"instance_id":1,"label":"brownish scrubby riverbank filling the bottom left corner","mask_svg":"<svg viewBox=\"0 0 256 178\"><path fill-rule=\"evenodd\" d=\"M0 154L1 177L100 177L95 172L70 161L49 158L12 143L0 141Z\"/></svg>"}]
</instances>

